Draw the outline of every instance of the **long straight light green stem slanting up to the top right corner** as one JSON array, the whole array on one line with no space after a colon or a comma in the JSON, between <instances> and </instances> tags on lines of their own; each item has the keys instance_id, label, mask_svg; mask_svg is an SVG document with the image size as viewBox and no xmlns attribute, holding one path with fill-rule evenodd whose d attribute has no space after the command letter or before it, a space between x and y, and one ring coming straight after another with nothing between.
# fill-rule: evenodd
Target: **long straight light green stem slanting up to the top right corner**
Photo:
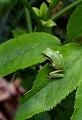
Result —
<instances>
[{"instance_id":1,"label":"long straight light green stem slanting up to the top right corner","mask_svg":"<svg viewBox=\"0 0 82 120\"><path fill-rule=\"evenodd\" d=\"M69 6L67 6L66 8L62 9L60 12L58 12L55 16L51 17L52 20L56 20L57 18L59 18L62 14L64 14L65 12L67 12L68 10L70 10L71 8L73 8L74 6L76 6L77 4L79 4L80 2L82 2L82 0L78 0L73 2L72 4L70 4Z\"/></svg>"}]
</instances>

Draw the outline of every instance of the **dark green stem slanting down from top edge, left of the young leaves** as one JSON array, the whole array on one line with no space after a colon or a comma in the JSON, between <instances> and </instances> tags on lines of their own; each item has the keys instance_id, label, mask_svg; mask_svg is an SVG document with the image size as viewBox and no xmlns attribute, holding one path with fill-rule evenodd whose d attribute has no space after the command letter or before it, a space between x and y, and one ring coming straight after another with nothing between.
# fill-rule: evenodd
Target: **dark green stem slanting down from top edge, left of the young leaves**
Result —
<instances>
[{"instance_id":1,"label":"dark green stem slanting down from top edge, left of the young leaves","mask_svg":"<svg viewBox=\"0 0 82 120\"><path fill-rule=\"evenodd\" d=\"M35 12L33 11L32 7L30 6L28 0L22 0L23 4L25 5L26 8L28 8L28 10L30 11L30 14L32 15L33 19L36 21L36 23L40 26L42 25L40 19L38 18L38 16L35 14Z\"/></svg>"}]
</instances>

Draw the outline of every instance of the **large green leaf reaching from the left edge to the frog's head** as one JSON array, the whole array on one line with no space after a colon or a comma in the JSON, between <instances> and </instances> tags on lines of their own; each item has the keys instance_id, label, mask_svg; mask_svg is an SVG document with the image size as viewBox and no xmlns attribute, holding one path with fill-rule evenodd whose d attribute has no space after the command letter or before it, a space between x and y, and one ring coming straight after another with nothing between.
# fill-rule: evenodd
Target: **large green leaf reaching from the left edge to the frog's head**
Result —
<instances>
[{"instance_id":1,"label":"large green leaf reaching from the left edge to the frog's head","mask_svg":"<svg viewBox=\"0 0 82 120\"><path fill-rule=\"evenodd\" d=\"M0 76L5 76L45 59L42 51L50 47L58 49L58 38L47 33L24 34L0 45Z\"/></svg>"}]
</instances>

